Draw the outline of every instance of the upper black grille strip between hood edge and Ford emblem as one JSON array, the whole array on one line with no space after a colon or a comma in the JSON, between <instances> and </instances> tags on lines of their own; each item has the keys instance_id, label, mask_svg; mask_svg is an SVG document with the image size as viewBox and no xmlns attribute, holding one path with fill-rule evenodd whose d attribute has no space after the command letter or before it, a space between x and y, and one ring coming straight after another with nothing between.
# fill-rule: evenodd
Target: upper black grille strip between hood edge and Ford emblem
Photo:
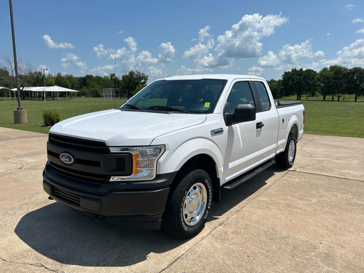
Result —
<instances>
[{"instance_id":1,"label":"upper black grille strip between hood edge and Ford emblem","mask_svg":"<svg viewBox=\"0 0 364 273\"><path fill-rule=\"evenodd\" d=\"M109 150L103 142L91 141L80 138L66 137L63 135L49 134L49 142L64 147L66 149L73 149L85 151L90 153L108 154Z\"/></svg>"}]
</instances>

